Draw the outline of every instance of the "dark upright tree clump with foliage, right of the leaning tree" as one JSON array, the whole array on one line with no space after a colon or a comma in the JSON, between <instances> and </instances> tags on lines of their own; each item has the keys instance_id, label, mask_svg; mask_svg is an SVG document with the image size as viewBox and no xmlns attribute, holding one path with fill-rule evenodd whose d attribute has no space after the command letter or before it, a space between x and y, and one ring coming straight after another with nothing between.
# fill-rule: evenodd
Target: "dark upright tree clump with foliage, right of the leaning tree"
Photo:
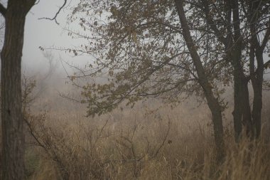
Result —
<instances>
[{"instance_id":1,"label":"dark upright tree clump with foliage, right of the leaning tree","mask_svg":"<svg viewBox=\"0 0 270 180\"><path fill-rule=\"evenodd\" d=\"M242 125L247 130L247 136L258 138L261 132L264 68L269 64L263 59L270 34L269 3L203 0L196 6L205 16L207 26L217 41L222 43L233 68L235 140L238 142L241 137ZM254 91L252 110L248 88L250 80Z\"/></svg>"}]
</instances>

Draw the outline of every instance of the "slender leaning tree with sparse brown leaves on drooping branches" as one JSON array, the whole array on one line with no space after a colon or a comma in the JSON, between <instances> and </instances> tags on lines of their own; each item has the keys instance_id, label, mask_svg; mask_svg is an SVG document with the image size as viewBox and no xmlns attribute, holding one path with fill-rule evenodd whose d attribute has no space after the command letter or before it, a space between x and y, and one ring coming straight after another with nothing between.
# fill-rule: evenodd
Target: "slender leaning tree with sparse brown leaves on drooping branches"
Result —
<instances>
[{"instance_id":1,"label":"slender leaning tree with sparse brown leaves on drooping branches","mask_svg":"<svg viewBox=\"0 0 270 180\"><path fill-rule=\"evenodd\" d=\"M201 21L190 23L192 16L201 20L195 6L183 1L80 1L70 21L79 21L87 33L68 34L85 38L88 44L62 49L95 59L90 69L70 76L107 78L82 86L82 102L88 103L88 115L101 115L121 102L134 105L145 97L163 97L178 102L183 94L197 94L210 107L214 127L217 161L225 155L220 98L228 65L215 53L220 45L207 36ZM76 16L77 15L77 16ZM187 17L188 16L188 17ZM77 18L79 17L79 18ZM207 48L205 48L207 47ZM77 85L77 84L76 84Z\"/></svg>"}]
</instances>

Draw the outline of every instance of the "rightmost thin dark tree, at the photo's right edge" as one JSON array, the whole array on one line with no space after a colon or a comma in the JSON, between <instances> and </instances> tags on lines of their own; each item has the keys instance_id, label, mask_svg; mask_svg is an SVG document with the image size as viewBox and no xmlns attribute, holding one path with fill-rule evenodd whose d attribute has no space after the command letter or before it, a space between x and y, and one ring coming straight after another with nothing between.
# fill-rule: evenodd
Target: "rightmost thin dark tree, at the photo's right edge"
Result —
<instances>
[{"instance_id":1,"label":"rightmost thin dark tree, at the photo's right edge","mask_svg":"<svg viewBox=\"0 0 270 180\"><path fill-rule=\"evenodd\" d=\"M270 4L268 1L247 1L248 8L245 9L250 22L250 45L249 45L249 78L252 80L254 90L252 123L254 135L258 138L261 134L261 107L262 86L264 81L264 69L269 67L270 61L264 63L264 53L270 37ZM262 37L262 38L261 38ZM257 61L257 69L255 57Z\"/></svg>"}]
</instances>

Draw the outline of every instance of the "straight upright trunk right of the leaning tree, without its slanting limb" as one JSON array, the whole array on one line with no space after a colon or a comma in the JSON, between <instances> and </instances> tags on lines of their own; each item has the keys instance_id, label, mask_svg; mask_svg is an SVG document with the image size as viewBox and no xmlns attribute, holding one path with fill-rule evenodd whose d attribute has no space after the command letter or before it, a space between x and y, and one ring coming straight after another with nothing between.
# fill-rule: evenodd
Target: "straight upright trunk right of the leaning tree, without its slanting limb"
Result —
<instances>
[{"instance_id":1,"label":"straight upright trunk right of the leaning tree, without its slanting limb","mask_svg":"<svg viewBox=\"0 0 270 180\"><path fill-rule=\"evenodd\" d=\"M239 2L230 1L233 18L233 38L232 44L232 66L234 68L234 139L239 142L242 135L242 125L247 130L248 136L253 136L252 115L249 105L248 81L244 75L241 62L242 55L242 34L240 31Z\"/></svg>"}]
</instances>

